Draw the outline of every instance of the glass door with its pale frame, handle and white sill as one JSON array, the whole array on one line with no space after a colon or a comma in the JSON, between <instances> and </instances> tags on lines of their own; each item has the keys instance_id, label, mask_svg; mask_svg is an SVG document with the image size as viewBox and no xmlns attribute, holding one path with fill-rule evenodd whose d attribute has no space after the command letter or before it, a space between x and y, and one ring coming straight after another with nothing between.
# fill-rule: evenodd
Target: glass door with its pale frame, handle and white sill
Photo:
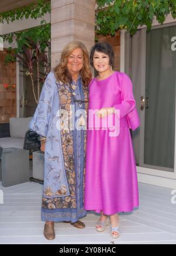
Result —
<instances>
[{"instance_id":1,"label":"glass door with its pale frame, handle and white sill","mask_svg":"<svg viewBox=\"0 0 176 256\"><path fill-rule=\"evenodd\" d=\"M175 177L176 25L127 36L128 67L141 126L132 132L138 172Z\"/></svg>"}]
</instances>

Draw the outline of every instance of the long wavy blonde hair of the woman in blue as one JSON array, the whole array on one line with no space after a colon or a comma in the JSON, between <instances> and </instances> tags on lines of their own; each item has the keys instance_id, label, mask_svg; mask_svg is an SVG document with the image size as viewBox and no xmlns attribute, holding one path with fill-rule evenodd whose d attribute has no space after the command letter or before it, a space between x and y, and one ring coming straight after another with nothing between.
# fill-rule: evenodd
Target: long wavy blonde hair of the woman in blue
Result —
<instances>
[{"instance_id":1,"label":"long wavy blonde hair of the woman in blue","mask_svg":"<svg viewBox=\"0 0 176 256\"><path fill-rule=\"evenodd\" d=\"M69 71L67 70L67 59L72 52L80 48L83 51L83 57L84 57L84 64L83 68L80 71L80 75L82 77L83 85L87 86L89 85L89 82L92 79L92 73L90 71L90 65L89 65L89 54L87 52L86 47L82 42L70 42L65 46L65 48L62 51L61 59L59 65L57 65L54 69L55 77L57 81L63 82L63 84L71 84L72 83L72 76L69 74Z\"/></svg>"}]
</instances>

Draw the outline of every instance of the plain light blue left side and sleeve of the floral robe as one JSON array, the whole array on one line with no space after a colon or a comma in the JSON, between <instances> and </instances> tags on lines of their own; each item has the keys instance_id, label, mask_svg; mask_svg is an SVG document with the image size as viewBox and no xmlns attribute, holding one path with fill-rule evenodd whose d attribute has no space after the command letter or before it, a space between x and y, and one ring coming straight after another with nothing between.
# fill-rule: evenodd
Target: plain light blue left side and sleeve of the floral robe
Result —
<instances>
[{"instance_id":1,"label":"plain light blue left side and sleeve of the floral robe","mask_svg":"<svg viewBox=\"0 0 176 256\"><path fill-rule=\"evenodd\" d=\"M47 200L70 195L62 155L60 132L56 127L60 104L55 82L55 75L50 72L43 84L38 107L29 122L29 129L37 132L40 136L46 137L43 197ZM50 204L49 201L48 204ZM52 205L49 205L49 208L52 208Z\"/></svg>"}]
</instances>

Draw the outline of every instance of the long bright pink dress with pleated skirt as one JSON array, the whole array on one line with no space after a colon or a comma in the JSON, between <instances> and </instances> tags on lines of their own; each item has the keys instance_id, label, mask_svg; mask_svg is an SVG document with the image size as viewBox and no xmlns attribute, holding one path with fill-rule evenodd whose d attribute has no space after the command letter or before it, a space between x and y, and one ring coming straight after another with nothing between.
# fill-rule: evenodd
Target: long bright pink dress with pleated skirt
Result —
<instances>
[{"instance_id":1,"label":"long bright pink dress with pleated skirt","mask_svg":"<svg viewBox=\"0 0 176 256\"><path fill-rule=\"evenodd\" d=\"M107 215L130 212L139 202L136 161L127 121L136 102L126 74L114 72L104 80L92 80L89 109L103 107L120 110L120 134L110 137L109 129L96 129L96 125L87 130L84 208L103 210Z\"/></svg>"}]
</instances>

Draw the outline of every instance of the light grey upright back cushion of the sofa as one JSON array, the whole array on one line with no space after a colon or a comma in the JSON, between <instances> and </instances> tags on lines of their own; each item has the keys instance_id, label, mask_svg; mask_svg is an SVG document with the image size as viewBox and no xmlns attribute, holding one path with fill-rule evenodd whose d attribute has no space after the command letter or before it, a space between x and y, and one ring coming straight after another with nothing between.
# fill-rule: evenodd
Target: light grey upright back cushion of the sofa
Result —
<instances>
[{"instance_id":1,"label":"light grey upright back cushion of the sofa","mask_svg":"<svg viewBox=\"0 0 176 256\"><path fill-rule=\"evenodd\" d=\"M31 121L31 117L26 118L9 118L10 134L12 138L25 138L25 133L28 131L28 124Z\"/></svg>"}]
</instances>

